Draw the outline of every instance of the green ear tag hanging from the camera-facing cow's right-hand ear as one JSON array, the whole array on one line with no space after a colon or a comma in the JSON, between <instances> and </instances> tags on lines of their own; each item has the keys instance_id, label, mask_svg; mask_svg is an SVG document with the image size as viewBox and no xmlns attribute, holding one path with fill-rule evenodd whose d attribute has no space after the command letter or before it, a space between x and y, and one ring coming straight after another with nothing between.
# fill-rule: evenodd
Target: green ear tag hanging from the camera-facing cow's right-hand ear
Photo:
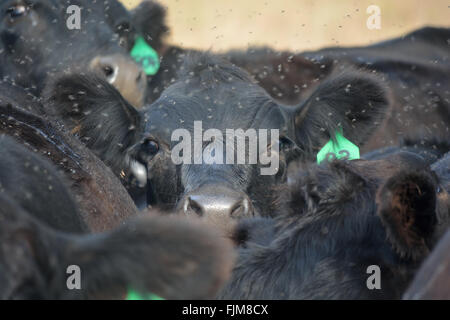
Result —
<instances>
[{"instance_id":1,"label":"green ear tag hanging from the camera-facing cow's right-hand ear","mask_svg":"<svg viewBox=\"0 0 450 320\"><path fill-rule=\"evenodd\" d=\"M358 146L346 139L340 132L336 132L336 143L333 140L328 141L317 153L317 163L321 163L323 160L332 161L334 159L359 159Z\"/></svg>"}]
</instances>

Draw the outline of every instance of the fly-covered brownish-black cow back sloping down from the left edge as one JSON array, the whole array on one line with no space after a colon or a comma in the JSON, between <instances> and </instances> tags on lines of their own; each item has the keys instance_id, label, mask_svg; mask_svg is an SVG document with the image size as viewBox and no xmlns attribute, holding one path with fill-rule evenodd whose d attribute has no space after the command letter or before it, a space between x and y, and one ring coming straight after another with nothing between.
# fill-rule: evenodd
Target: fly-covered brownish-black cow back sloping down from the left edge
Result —
<instances>
[{"instance_id":1,"label":"fly-covered brownish-black cow back sloping down from the left edge","mask_svg":"<svg viewBox=\"0 0 450 320\"><path fill-rule=\"evenodd\" d=\"M0 84L0 135L14 137L16 141L43 155L61 170L64 181L80 209L82 221L89 231L109 230L137 213L135 204L114 173L58 122L49 119L39 100L22 87ZM19 179L23 176L19 174L21 168L8 166L17 161L14 158L6 158L3 149L1 156L5 165L1 168L2 174L9 186L18 183L18 189L15 191L17 196L23 196L22 188L24 191L30 190L33 197L39 198L39 195L45 194L38 186L22 186ZM17 179L19 181L16 181ZM42 188L48 187L44 179L41 182ZM34 206L45 213L45 207L35 205L36 202L42 206L46 205L40 203L38 198L30 200L27 209ZM67 206L70 202L63 202L66 206L62 208L69 209ZM57 212L54 216L56 214ZM55 220L59 225L64 224L64 221L60 222ZM74 226L73 223L66 222L67 228Z\"/></svg>"}]
</instances>

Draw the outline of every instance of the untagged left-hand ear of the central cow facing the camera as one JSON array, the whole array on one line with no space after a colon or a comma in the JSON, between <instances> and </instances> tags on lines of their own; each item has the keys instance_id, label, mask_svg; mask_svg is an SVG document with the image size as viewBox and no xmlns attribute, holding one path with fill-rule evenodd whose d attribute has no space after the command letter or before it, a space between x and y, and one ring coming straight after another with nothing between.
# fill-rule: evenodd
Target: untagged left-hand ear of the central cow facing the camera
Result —
<instances>
[{"instance_id":1,"label":"untagged left-hand ear of the central cow facing the camera","mask_svg":"<svg viewBox=\"0 0 450 320\"><path fill-rule=\"evenodd\" d=\"M114 171L139 140L141 116L108 82L95 76L57 77L44 91L47 111L59 119Z\"/></svg>"}]
</instances>

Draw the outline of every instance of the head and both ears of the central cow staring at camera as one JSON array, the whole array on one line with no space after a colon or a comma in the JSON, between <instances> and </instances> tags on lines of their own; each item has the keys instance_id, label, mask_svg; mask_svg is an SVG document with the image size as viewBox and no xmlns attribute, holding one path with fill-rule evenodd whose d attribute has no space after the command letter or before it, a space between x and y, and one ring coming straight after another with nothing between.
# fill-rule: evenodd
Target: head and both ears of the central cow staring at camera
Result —
<instances>
[{"instance_id":1,"label":"head and both ears of the central cow staring at camera","mask_svg":"<svg viewBox=\"0 0 450 320\"><path fill-rule=\"evenodd\" d=\"M181 70L178 80L141 113L108 83L83 75L55 80L46 91L45 105L116 173L129 167L132 159L146 166L151 204L211 219L270 215L268 186L285 182L293 159L314 160L340 130L354 143L363 144L389 104L378 77L355 70L323 82L296 107L277 103L246 72L214 56L193 55ZM262 175L265 166L261 164L176 165L171 155L179 138L171 141L171 135L185 129L194 137L194 121L202 121L204 131L279 130L279 138L271 146L267 140L259 151L279 147L273 149L273 155L279 155L273 174ZM211 138L204 142L200 153L211 142ZM237 150L231 152L235 156ZM145 170L143 175L145 179Z\"/></svg>"}]
</instances>

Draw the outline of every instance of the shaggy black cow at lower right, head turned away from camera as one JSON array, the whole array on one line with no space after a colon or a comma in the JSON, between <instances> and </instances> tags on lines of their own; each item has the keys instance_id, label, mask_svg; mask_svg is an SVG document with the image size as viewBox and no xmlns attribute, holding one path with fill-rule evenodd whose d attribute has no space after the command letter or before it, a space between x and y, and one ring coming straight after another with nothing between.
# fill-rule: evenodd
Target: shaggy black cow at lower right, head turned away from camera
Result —
<instances>
[{"instance_id":1,"label":"shaggy black cow at lower right, head turned away from camera","mask_svg":"<svg viewBox=\"0 0 450 320\"><path fill-rule=\"evenodd\" d=\"M275 219L236 229L238 261L218 297L401 298L450 227L448 177L405 151L299 170Z\"/></svg>"}]
</instances>

